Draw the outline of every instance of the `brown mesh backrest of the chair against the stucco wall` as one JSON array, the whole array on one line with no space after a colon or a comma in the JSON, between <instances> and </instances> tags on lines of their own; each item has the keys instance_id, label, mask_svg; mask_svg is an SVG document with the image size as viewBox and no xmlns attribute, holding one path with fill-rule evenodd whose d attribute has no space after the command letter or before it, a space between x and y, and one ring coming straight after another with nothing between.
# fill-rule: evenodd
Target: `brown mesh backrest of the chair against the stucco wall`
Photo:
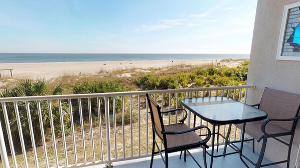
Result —
<instances>
[{"instance_id":1,"label":"brown mesh backrest of the chair against the stucco wall","mask_svg":"<svg viewBox=\"0 0 300 168\"><path fill-rule=\"evenodd\" d=\"M265 88L262 94L259 109L268 113L268 118L292 118L298 115L300 94ZM271 121L272 122L272 121ZM283 128L292 129L293 121L276 121Z\"/></svg>"}]
</instances>

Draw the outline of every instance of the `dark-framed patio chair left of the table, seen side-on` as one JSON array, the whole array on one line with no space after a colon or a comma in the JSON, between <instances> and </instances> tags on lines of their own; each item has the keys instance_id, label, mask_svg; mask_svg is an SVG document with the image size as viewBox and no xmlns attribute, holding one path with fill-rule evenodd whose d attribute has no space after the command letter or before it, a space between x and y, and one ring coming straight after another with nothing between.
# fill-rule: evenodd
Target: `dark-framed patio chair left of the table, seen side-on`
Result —
<instances>
[{"instance_id":1,"label":"dark-framed patio chair left of the table, seen side-on","mask_svg":"<svg viewBox=\"0 0 300 168\"><path fill-rule=\"evenodd\" d=\"M207 167L206 148L208 148L206 143L210 139L210 136L211 136L210 129L204 125L190 128L190 126L188 126L184 123L184 120L187 118L187 111L185 109L177 108L177 109L161 112L159 104L148 94L146 94L146 97L147 97L149 108L150 108L152 129L153 129L153 145L152 145L152 156L151 156L150 167L152 167L152 165L153 165L153 157L154 157L155 153L159 152L161 154L166 167L168 167L168 154L169 153L175 152L175 151L181 151L181 153L180 153L180 158L181 158L181 154L184 151L184 160L186 161L186 151L189 152L188 149L201 146L203 148L204 166L206 168ZM184 118L179 120L179 123L164 125L162 114L177 111L177 110L185 111ZM195 133L195 130L203 129L203 128L208 130L208 134L205 134L206 137L204 139L202 139L199 135L197 135ZM162 150L159 148L159 145L155 138L156 134L161 139L165 149ZM157 146L157 148L159 150L158 152L155 152L155 146ZM163 151L165 151L165 159L162 154ZM190 153L190 155L195 160L197 165L199 167L201 167L200 164L196 161L196 159L192 156L191 153Z\"/></svg>"}]
</instances>

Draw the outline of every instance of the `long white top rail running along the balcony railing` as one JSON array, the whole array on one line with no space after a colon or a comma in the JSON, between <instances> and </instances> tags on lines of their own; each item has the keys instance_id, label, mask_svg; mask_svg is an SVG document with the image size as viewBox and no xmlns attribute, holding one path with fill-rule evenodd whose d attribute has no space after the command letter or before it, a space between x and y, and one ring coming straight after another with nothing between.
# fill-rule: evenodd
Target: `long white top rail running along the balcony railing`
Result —
<instances>
[{"instance_id":1,"label":"long white top rail running along the balcony railing","mask_svg":"<svg viewBox=\"0 0 300 168\"><path fill-rule=\"evenodd\" d=\"M205 91L205 90L223 90L235 88L255 88L254 84L237 85L237 86L220 86L220 87L199 87L199 88L180 88L180 89L165 89L165 90L142 90L142 91L124 91L124 92L107 92L107 93L88 93L88 94L63 94L63 95L40 95L40 96L24 96L24 97L2 97L0 102L13 101L32 101L32 100L48 100L48 99L73 99L73 98L88 98L88 97L104 97L104 96L121 96L121 95L140 95L153 93L174 93L188 91Z\"/></svg>"}]
</instances>

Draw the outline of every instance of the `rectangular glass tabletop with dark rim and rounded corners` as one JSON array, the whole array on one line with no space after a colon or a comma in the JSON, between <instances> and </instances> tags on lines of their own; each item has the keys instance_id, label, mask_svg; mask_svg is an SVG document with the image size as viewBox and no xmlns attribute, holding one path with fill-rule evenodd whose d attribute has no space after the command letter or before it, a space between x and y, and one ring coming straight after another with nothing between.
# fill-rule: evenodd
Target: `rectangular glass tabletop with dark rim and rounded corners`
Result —
<instances>
[{"instance_id":1,"label":"rectangular glass tabletop with dark rim and rounded corners","mask_svg":"<svg viewBox=\"0 0 300 168\"><path fill-rule=\"evenodd\" d=\"M186 98L181 103L211 123L242 123L267 117L266 112L228 97Z\"/></svg>"}]
</instances>

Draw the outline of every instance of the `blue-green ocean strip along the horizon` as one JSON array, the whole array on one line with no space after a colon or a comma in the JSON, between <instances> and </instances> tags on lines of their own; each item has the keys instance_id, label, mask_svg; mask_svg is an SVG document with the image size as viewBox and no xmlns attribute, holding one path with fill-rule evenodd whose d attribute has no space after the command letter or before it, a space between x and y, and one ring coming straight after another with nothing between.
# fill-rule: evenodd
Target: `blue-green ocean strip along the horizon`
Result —
<instances>
[{"instance_id":1,"label":"blue-green ocean strip along the horizon","mask_svg":"<svg viewBox=\"0 0 300 168\"><path fill-rule=\"evenodd\" d=\"M188 53L0 53L0 63L86 62L117 60L182 60L249 58L250 54Z\"/></svg>"}]
</instances>

